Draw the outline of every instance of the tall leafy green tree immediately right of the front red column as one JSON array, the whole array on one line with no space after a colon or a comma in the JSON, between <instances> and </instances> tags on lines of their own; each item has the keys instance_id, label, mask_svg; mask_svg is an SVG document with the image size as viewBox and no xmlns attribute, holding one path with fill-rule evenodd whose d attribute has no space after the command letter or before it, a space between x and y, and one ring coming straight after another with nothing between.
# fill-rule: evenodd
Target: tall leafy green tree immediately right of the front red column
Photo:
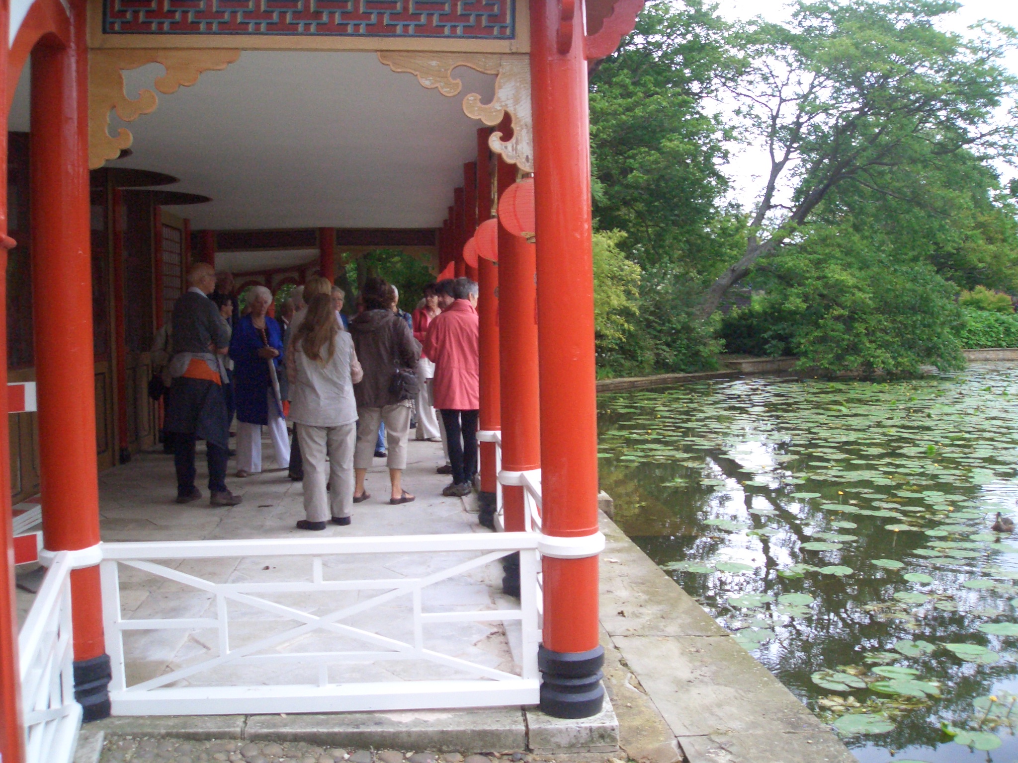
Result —
<instances>
[{"instance_id":1,"label":"tall leafy green tree immediately right of the front red column","mask_svg":"<svg viewBox=\"0 0 1018 763\"><path fill-rule=\"evenodd\" d=\"M626 234L641 268L681 270L691 288L724 267L739 233L718 220L727 133L708 105L730 57L714 10L648 3L590 78L595 217Z\"/></svg>"}]
</instances>

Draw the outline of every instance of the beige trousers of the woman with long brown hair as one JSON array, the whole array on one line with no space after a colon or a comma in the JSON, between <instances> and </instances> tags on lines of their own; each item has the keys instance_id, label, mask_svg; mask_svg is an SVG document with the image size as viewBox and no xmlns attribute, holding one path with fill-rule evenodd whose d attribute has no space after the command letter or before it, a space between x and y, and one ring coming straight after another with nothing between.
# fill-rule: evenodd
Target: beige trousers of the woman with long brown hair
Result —
<instances>
[{"instance_id":1,"label":"beige trousers of the woman with long brown hair","mask_svg":"<svg viewBox=\"0 0 1018 763\"><path fill-rule=\"evenodd\" d=\"M339 426L297 426L304 465L304 514L308 522L349 517L353 506L353 449L356 423ZM329 457L328 479L326 456ZM330 482L326 494L326 482Z\"/></svg>"}]
</instances>

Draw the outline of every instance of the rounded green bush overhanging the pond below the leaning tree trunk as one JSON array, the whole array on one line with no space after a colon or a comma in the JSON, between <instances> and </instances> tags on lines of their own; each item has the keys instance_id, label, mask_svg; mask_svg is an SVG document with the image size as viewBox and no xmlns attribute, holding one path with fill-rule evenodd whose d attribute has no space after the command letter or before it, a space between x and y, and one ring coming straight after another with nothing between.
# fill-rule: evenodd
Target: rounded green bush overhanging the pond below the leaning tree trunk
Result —
<instances>
[{"instance_id":1,"label":"rounded green bush overhanging the pond below the leaning tree trunk","mask_svg":"<svg viewBox=\"0 0 1018 763\"><path fill-rule=\"evenodd\" d=\"M964 364L955 287L928 265L891 256L851 230L825 228L766 267L754 281L764 294L725 319L730 351L794 354L800 368L829 373Z\"/></svg>"}]
</instances>

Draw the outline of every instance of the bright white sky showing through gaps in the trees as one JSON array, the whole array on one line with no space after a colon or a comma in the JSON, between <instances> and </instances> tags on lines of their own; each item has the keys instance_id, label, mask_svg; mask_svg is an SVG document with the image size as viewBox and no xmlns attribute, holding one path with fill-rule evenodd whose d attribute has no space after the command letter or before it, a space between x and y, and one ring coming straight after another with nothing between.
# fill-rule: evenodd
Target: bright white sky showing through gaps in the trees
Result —
<instances>
[{"instance_id":1,"label":"bright white sky showing through gaps in the trees","mask_svg":"<svg viewBox=\"0 0 1018 763\"><path fill-rule=\"evenodd\" d=\"M761 15L768 20L781 20L789 16L786 0L715 0L718 10L725 18L736 20L752 18ZM1000 21L1018 28L1018 0L962 0L962 7L957 13L946 20L944 28L965 33L968 27L982 19ZM1012 51L1007 64L1018 74L1018 51ZM760 177L769 169L766 156L753 146L730 146L731 161L725 168L725 174L731 181L731 195L742 202L746 209L753 207L753 201L760 189ZM1013 177L1018 177L1018 170L1004 165L999 166L1001 176L1006 183Z\"/></svg>"}]
</instances>

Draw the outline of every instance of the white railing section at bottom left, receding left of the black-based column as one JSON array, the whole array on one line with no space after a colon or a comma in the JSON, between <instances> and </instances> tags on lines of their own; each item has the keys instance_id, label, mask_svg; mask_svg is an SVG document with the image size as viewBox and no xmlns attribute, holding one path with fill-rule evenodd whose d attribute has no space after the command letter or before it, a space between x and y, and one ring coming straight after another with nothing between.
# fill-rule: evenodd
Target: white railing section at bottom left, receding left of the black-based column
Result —
<instances>
[{"instance_id":1,"label":"white railing section at bottom left, receding left of the black-based column","mask_svg":"<svg viewBox=\"0 0 1018 763\"><path fill-rule=\"evenodd\" d=\"M74 701L71 567L67 551L53 557L17 637L27 763L70 761L81 725Z\"/></svg>"}]
</instances>

